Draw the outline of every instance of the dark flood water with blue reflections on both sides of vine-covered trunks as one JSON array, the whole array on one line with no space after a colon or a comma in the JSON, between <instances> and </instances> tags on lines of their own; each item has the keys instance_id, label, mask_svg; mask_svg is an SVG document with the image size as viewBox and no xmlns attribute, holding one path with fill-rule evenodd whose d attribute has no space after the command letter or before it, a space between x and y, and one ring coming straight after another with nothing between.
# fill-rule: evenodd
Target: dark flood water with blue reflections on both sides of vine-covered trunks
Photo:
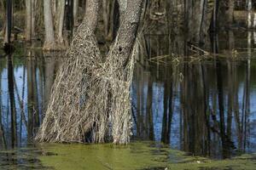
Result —
<instances>
[{"instance_id":1,"label":"dark flood water with blue reflections on both sides of vine-covered trunks","mask_svg":"<svg viewBox=\"0 0 256 170\"><path fill-rule=\"evenodd\" d=\"M256 32L225 32L201 48L173 35L140 41L131 86L134 141L213 159L256 152ZM42 154L33 137L62 59L19 46L0 58L0 150L22 157ZM0 154L0 166L6 159Z\"/></svg>"}]
</instances>

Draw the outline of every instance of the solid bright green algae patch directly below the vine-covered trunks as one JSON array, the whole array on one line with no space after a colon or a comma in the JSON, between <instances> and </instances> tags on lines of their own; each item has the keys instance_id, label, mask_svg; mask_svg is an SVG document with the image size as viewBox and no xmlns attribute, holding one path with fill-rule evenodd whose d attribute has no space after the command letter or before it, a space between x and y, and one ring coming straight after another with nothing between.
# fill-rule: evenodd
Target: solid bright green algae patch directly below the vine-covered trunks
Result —
<instances>
[{"instance_id":1,"label":"solid bright green algae patch directly below the vine-covered trunks","mask_svg":"<svg viewBox=\"0 0 256 170\"><path fill-rule=\"evenodd\" d=\"M43 145L45 152L57 156L42 156L47 167L55 169L142 169L164 167L166 154L147 144L118 146L113 144L56 144ZM159 153L157 153L159 152Z\"/></svg>"}]
</instances>

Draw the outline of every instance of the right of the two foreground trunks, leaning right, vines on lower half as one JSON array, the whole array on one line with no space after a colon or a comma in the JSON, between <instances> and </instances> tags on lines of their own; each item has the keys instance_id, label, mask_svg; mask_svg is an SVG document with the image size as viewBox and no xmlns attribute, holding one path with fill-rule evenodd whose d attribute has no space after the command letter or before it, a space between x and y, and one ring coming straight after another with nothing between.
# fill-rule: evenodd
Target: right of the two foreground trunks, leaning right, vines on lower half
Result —
<instances>
[{"instance_id":1,"label":"right of the two foreground trunks, leaning right, vines on lower half","mask_svg":"<svg viewBox=\"0 0 256 170\"><path fill-rule=\"evenodd\" d=\"M134 65L133 59L131 59L131 52L137 38L142 5L143 0L129 1L127 3L125 19L121 22L117 37L112 45L113 48L110 49L108 59L103 66L106 77L111 75L113 79L108 93L109 95L111 94L110 101L114 102L106 105L106 107L108 108L108 114L111 116L109 123L113 126L111 136L113 136L114 144L126 144L130 141L130 87ZM105 68L112 69L105 71ZM104 78L102 79L102 84L105 84ZM100 95L105 95L104 91L100 91ZM120 96L123 97L120 98ZM108 103L109 100L106 100Z\"/></svg>"}]
</instances>

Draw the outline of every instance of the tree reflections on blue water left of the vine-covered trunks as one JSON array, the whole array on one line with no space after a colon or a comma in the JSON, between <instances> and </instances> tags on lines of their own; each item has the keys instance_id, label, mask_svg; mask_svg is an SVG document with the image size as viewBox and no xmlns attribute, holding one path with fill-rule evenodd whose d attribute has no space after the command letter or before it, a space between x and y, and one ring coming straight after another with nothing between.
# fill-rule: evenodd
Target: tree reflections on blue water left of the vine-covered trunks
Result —
<instances>
[{"instance_id":1,"label":"tree reflections on blue water left of the vine-covered trunks","mask_svg":"<svg viewBox=\"0 0 256 170\"><path fill-rule=\"evenodd\" d=\"M12 54L1 59L1 147L2 145L3 147L14 147L32 143L33 136L42 120L42 112L45 108L44 96L50 94L52 84L50 82L53 82L55 74L55 64L52 65L52 63L55 63L55 59L49 55L44 58L40 51L31 49L26 50L26 56L26 58L17 59ZM2 79L5 71L7 71L7 81ZM8 91L2 93L3 90L6 90L5 87ZM3 99L7 101L3 101Z\"/></svg>"}]
</instances>

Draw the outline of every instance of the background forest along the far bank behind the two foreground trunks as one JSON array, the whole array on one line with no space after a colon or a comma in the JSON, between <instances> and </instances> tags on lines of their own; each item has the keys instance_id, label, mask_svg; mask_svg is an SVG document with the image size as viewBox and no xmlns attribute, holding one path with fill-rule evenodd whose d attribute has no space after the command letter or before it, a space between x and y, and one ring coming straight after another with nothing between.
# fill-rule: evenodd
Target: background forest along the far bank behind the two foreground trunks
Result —
<instances>
[{"instance_id":1,"label":"background forest along the far bank behind the two foreground trunks","mask_svg":"<svg viewBox=\"0 0 256 170\"><path fill-rule=\"evenodd\" d=\"M125 2L104 0L100 4L97 33L100 43L111 42L115 37ZM253 0L147 0L143 4L142 29L148 33L182 30L189 32L189 41L204 42L208 31L255 27L255 3ZM86 0L1 0L0 8L0 35L4 42L8 42L7 21L11 20L12 41L38 42L45 50L65 50L84 18Z\"/></svg>"}]
</instances>

